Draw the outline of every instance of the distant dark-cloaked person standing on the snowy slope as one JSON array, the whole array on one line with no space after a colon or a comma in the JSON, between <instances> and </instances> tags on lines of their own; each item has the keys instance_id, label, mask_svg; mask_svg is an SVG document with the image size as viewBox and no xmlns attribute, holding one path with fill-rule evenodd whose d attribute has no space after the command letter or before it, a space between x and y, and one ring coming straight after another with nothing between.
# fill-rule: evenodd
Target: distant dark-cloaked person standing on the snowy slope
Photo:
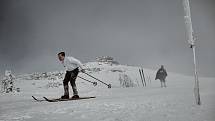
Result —
<instances>
[{"instance_id":1,"label":"distant dark-cloaked person standing on the snowy slope","mask_svg":"<svg viewBox=\"0 0 215 121\"><path fill-rule=\"evenodd\" d=\"M156 74L155 80L159 79L161 82L161 87L166 87L166 77L167 77L167 72L164 69L164 66L161 65L161 68L158 70L158 72Z\"/></svg>"}]
</instances>

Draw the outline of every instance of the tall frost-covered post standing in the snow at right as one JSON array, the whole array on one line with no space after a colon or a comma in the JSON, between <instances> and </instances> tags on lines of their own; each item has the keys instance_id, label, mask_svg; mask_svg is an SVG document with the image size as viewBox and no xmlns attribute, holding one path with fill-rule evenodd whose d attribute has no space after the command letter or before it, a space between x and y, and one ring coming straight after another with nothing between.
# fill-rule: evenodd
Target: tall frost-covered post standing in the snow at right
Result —
<instances>
[{"instance_id":1,"label":"tall frost-covered post standing in the snow at right","mask_svg":"<svg viewBox=\"0 0 215 121\"><path fill-rule=\"evenodd\" d=\"M195 78L194 96L196 99L196 104L201 105L200 94L199 94L197 63L196 63L196 38L194 38L189 0L183 0L183 7L184 7L184 13L185 13L184 20L185 20L185 25L187 30L188 43L190 44L190 48L193 49L194 78Z\"/></svg>"}]
</instances>

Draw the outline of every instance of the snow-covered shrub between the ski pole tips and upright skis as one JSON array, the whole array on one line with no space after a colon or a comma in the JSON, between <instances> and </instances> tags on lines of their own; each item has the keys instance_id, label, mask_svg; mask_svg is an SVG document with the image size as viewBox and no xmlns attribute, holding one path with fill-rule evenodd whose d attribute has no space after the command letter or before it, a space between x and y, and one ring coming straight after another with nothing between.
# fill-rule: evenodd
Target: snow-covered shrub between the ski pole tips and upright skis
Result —
<instances>
[{"instance_id":1,"label":"snow-covered shrub between the ski pole tips and upright skis","mask_svg":"<svg viewBox=\"0 0 215 121\"><path fill-rule=\"evenodd\" d=\"M122 86L124 88L135 86L135 83L126 74L119 74L119 81L120 81L120 86Z\"/></svg>"}]
</instances>

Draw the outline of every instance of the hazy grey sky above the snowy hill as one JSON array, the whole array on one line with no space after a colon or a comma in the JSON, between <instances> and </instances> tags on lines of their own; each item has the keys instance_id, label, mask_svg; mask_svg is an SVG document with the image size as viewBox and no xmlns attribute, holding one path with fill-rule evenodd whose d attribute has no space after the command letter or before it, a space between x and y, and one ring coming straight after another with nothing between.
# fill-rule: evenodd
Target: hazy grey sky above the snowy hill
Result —
<instances>
[{"instance_id":1,"label":"hazy grey sky above the snowy hill","mask_svg":"<svg viewBox=\"0 0 215 121\"><path fill-rule=\"evenodd\" d=\"M215 1L191 0L191 14L199 73L215 76ZM183 16L182 0L0 0L1 74L62 69L66 51L191 75Z\"/></svg>"}]
</instances>

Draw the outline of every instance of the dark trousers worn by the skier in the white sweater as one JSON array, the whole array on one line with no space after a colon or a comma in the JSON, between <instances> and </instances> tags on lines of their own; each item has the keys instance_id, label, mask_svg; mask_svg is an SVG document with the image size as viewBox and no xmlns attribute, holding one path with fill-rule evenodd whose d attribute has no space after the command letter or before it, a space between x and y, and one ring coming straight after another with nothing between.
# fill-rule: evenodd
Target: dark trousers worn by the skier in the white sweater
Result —
<instances>
[{"instance_id":1,"label":"dark trousers worn by the skier in the white sweater","mask_svg":"<svg viewBox=\"0 0 215 121\"><path fill-rule=\"evenodd\" d=\"M66 75L63 80L63 86L64 86L64 95L69 95L69 85L68 83L70 82L73 90L73 95L78 95L77 87L75 84L75 80L78 76L79 69L76 68L72 71L66 71Z\"/></svg>"}]
</instances>

